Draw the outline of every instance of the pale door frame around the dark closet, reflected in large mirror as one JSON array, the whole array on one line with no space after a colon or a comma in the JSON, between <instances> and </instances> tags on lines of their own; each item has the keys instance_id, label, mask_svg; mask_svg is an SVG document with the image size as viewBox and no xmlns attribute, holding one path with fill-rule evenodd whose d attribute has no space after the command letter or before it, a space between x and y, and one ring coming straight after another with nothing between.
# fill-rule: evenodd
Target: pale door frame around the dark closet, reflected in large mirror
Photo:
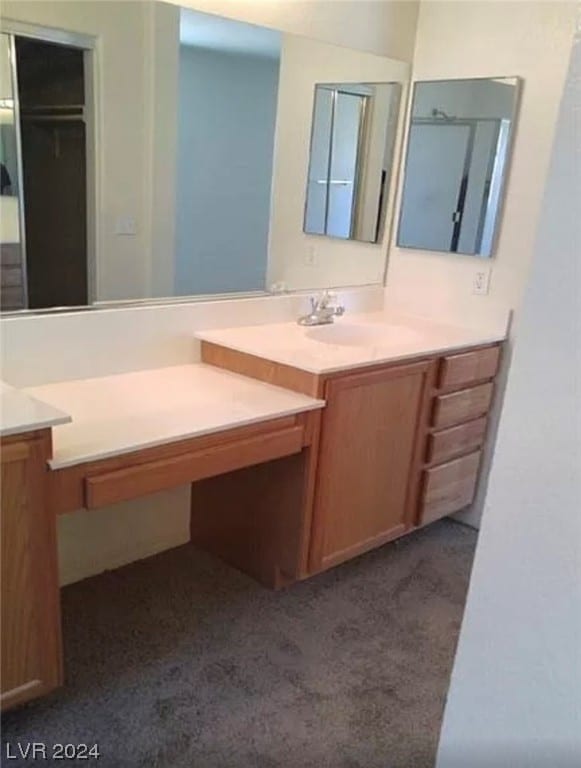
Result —
<instances>
[{"instance_id":1,"label":"pale door frame around the dark closet, reflected in large mirror","mask_svg":"<svg viewBox=\"0 0 581 768\"><path fill-rule=\"evenodd\" d=\"M28 24L20 21L2 19L0 31L12 35L10 41L11 56L13 57L12 76L16 79L16 37L28 37L34 40L46 43L56 43L57 45L66 45L69 48L80 48L83 52L83 69L85 75L85 142L86 142L86 205L87 205L87 302L92 304L97 298L97 262L99 253L99 201L101 199L100 171L101 166L99 158L101 157L98 148L100 145L99 120L97 119L99 110L99 87L98 87L98 41L96 37L77 32L68 32L53 27L43 27L37 24ZM15 83L16 91L14 94L15 105L18 100L18 83ZM20 112L16 114L18 120L18 165L19 165L19 188L21 197L24 198L23 187L21 185L22 176L22 154L20 146ZM21 201L21 238L26 242L26 227L24 225L24 199ZM28 309L28 285L26 286L26 305ZM42 310L46 311L46 310Z\"/></svg>"}]
</instances>

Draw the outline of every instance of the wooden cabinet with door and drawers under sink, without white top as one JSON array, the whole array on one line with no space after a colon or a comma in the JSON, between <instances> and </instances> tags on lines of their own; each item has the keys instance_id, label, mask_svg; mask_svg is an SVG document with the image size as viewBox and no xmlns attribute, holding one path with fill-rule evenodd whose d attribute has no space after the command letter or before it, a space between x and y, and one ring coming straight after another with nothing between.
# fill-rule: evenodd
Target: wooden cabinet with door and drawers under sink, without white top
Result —
<instances>
[{"instance_id":1,"label":"wooden cabinet with door and drawers under sink, without white top","mask_svg":"<svg viewBox=\"0 0 581 768\"><path fill-rule=\"evenodd\" d=\"M487 344L314 374L202 342L205 363L326 400L306 575L472 502L500 355Z\"/></svg>"}]
</instances>

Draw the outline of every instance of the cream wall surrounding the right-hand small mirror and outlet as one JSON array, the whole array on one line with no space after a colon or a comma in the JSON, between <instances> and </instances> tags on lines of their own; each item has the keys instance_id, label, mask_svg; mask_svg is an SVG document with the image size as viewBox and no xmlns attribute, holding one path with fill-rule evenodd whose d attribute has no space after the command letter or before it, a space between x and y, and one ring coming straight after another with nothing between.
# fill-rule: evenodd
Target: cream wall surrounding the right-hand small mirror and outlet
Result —
<instances>
[{"instance_id":1,"label":"cream wall surrounding the right-hand small mirror and outlet","mask_svg":"<svg viewBox=\"0 0 581 768\"><path fill-rule=\"evenodd\" d=\"M483 266L480 259L397 248L394 228L387 306L403 305L458 322L520 305L575 20L575 2L421 4L414 80L518 75L524 83L496 255L487 260L492 266L489 295L472 295L474 274ZM485 492L482 482L466 522L478 524Z\"/></svg>"}]
</instances>

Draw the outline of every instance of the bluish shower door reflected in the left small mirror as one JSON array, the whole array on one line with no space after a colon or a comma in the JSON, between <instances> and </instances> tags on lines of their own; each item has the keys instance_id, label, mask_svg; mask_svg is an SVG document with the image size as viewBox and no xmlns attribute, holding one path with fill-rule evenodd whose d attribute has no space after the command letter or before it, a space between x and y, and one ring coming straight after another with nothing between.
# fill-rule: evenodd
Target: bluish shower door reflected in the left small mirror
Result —
<instances>
[{"instance_id":1,"label":"bluish shower door reflected in the left small mirror","mask_svg":"<svg viewBox=\"0 0 581 768\"><path fill-rule=\"evenodd\" d=\"M317 86L305 231L350 238L367 96Z\"/></svg>"}]
</instances>

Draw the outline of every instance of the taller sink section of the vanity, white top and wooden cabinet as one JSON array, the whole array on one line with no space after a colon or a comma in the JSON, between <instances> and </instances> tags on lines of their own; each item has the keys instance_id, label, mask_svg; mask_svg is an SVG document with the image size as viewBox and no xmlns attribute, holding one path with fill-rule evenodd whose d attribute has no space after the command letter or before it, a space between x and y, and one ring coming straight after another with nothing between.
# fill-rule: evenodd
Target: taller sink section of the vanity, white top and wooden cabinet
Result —
<instances>
[{"instance_id":1,"label":"taller sink section of the vanity, white top and wooden cabinet","mask_svg":"<svg viewBox=\"0 0 581 768\"><path fill-rule=\"evenodd\" d=\"M421 322L372 321L200 335L205 362L326 402L308 574L472 501L501 347L464 344L439 353L433 347L445 345L441 333L438 340ZM454 332L447 333L451 344ZM277 348L277 335L295 336L291 352L282 341ZM327 345L318 359L317 344Z\"/></svg>"}]
</instances>

